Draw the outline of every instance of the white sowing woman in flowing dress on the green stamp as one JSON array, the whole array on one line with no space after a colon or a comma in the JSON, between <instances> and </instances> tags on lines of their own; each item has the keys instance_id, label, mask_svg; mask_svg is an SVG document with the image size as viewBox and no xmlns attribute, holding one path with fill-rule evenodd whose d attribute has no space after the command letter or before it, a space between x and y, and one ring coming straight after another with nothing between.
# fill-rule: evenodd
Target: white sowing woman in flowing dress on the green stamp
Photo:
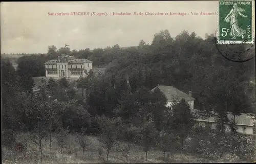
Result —
<instances>
[{"instance_id":1,"label":"white sowing woman in flowing dress on the green stamp","mask_svg":"<svg viewBox=\"0 0 256 164\"><path fill-rule=\"evenodd\" d=\"M238 7L237 3L233 4L233 8L230 10L230 12L225 17L224 21L230 23L230 33L229 35L232 36L231 39L236 39L236 37L241 37L244 39L244 34L246 31L238 26L238 15L246 18L247 15L244 15L245 10Z\"/></svg>"}]
</instances>

